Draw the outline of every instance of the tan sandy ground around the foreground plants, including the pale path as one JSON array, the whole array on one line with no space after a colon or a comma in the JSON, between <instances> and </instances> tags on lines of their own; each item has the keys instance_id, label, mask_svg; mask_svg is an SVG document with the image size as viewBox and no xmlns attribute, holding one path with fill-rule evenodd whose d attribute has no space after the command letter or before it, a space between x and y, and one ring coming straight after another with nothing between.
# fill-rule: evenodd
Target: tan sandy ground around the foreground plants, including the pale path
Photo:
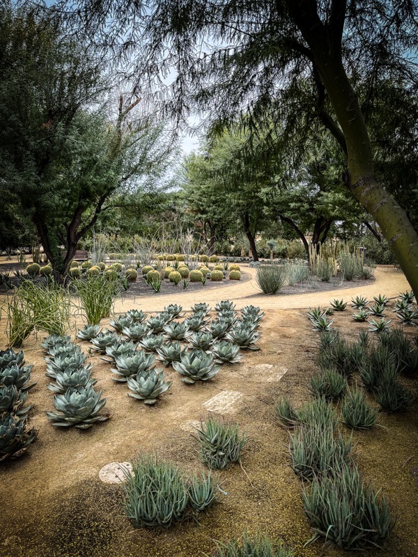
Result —
<instances>
[{"instance_id":1,"label":"tan sandy ground around the foreground plants, including the pale path","mask_svg":"<svg viewBox=\"0 0 418 557\"><path fill-rule=\"evenodd\" d=\"M254 274L254 269L246 272ZM0 468L0 556L194 557L209 554L213 539L260 529L274 540L286 540L295 557L342 557L342 551L322 550L319 542L303 547L311 533L302 509L301 483L289 466L288 436L274 418L274 401L282 394L296 403L308 398L318 337L311 332L305 308L327 305L334 297L394 297L407 288L401 273L376 269L371 285L335 292L263 296L251 280L202 296L179 291L170 297L118 302L116 312L132 307L160 311L171 302L185 309L197 301L214 306L221 299L233 299L237 308L261 306L266 311L261 350L245 353L237 365L223 366L215 379L194 386L183 384L167 368L173 386L155 407L128 398L127 387L111 380L110 365L91 355L96 387L107 398L112 416L86 432L62 430L47 421L45 411L53 405L43 354L38 343L27 343L26 363L34 364L33 379L38 381L29 392L30 424L38 427L39 436L24 457ZM336 326L349 336L367 327L354 323L351 313L335 314ZM88 343L82 346L87 352ZM222 408L225 400L232 402ZM189 473L202 469L190 422L204 418L210 409L233 418L247 432L243 469L232 466L217 474L226 494L219 493L219 504L201 515L199 525L187 521L169 531L134 530L123 515L120 487L101 483L99 470L109 462L155 450ZM397 515L387 554L416 557L418 487L411 471L418 465L417 408L396 416L382 414L380 424L385 427L354 435L355 460L366 480L385 490Z\"/></svg>"}]
</instances>

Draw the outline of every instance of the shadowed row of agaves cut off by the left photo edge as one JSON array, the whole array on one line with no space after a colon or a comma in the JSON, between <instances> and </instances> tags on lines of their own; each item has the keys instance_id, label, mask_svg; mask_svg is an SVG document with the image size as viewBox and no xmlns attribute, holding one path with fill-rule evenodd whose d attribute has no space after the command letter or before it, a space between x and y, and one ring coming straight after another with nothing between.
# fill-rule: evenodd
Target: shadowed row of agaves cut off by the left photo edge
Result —
<instances>
[{"instance_id":1,"label":"shadowed row of agaves cut off by the left photo edge","mask_svg":"<svg viewBox=\"0 0 418 557\"><path fill-rule=\"evenodd\" d=\"M0 462L20 457L35 441L38 430L27 427L31 406L24 406L33 366L25 366L22 350L0 351Z\"/></svg>"}]
</instances>

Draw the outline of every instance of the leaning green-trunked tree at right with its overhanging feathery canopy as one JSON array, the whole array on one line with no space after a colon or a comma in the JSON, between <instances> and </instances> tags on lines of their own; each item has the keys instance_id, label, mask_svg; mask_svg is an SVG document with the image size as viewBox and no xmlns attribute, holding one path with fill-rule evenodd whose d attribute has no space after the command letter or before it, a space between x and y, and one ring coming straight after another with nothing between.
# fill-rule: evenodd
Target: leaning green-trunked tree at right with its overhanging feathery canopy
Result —
<instances>
[{"instance_id":1,"label":"leaning green-trunked tree at right with its overhanging feathery canopy","mask_svg":"<svg viewBox=\"0 0 418 557\"><path fill-rule=\"evenodd\" d=\"M266 113L269 125L270 118L286 120L288 134L300 129L303 115L325 126L346 154L343 182L378 223L418 297L418 235L376 177L356 91L361 82L373 97L382 76L417 87L413 59L405 55L417 47L414 0L78 4L77 14L101 29L107 44L119 41L124 54L135 56L139 81L154 84L175 68L164 106L177 116L194 102L222 126L248 109L258 123ZM301 95L307 88L309 95Z\"/></svg>"}]
</instances>

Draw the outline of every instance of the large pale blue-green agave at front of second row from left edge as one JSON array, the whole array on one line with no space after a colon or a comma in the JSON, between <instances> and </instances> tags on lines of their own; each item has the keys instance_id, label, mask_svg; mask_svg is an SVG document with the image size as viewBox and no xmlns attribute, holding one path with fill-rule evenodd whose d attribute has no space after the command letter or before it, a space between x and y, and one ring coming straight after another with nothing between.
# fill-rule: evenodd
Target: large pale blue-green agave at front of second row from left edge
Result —
<instances>
[{"instance_id":1,"label":"large pale blue-green agave at front of second row from left edge","mask_svg":"<svg viewBox=\"0 0 418 557\"><path fill-rule=\"evenodd\" d=\"M67 389L63 395L54 396L54 407L58 412L47 412L52 425L87 430L96 422L103 422L110 416L100 416L99 412L106 404L102 391L95 393L93 387Z\"/></svg>"}]
</instances>

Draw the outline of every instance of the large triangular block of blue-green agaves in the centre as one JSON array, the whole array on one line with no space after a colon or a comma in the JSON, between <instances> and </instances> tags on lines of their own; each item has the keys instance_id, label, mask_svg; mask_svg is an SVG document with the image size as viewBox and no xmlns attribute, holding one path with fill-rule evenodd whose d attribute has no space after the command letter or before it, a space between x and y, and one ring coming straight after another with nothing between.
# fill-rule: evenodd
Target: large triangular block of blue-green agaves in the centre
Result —
<instances>
[{"instance_id":1,"label":"large triangular block of blue-green agaves in the centre","mask_svg":"<svg viewBox=\"0 0 418 557\"><path fill-rule=\"evenodd\" d=\"M264 315L260 308L242 308L238 317L233 303L222 301L215 307L217 319L212 321L210 311L208 304L195 304L191 315L180 321L176 317L184 313L178 304L169 304L148 320L144 311L130 310L111 320L116 332L86 325L77 336L91 340L91 350L114 364L113 379L127 383L132 391L129 396L153 405L171 386L163 370L155 368L156 360L166 367L171 365L183 382L193 384L215 377L222 363L240 361L240 348L258 350L257 329Z\"/></svg>"}]
</instances>

